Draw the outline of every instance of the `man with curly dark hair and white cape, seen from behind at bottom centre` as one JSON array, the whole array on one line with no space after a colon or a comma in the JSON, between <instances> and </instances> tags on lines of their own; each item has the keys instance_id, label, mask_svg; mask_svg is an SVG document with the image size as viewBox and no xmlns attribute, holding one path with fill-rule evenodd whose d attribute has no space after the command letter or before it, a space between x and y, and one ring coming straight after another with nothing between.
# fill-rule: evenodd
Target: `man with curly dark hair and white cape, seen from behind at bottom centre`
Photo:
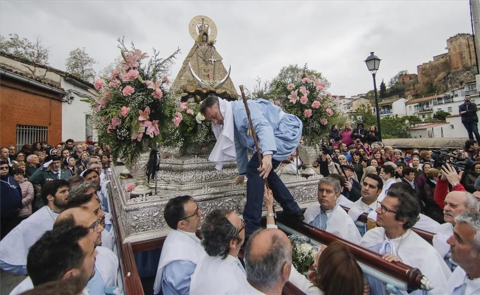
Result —
<instances>
[{"instance_id":1,"label":"man with curly dark hair and white cape, seen from behind at bottom centre","mask_svg":"<svg viewBox=\"0 0 480 295\"><path fill-rule=\"evenodd\" d=\"M245 226L233 211L213 210L202 224L203 256L191 276L190 294L249 294L250 284L238 252Z\"/></svg>"}]
</instances>

